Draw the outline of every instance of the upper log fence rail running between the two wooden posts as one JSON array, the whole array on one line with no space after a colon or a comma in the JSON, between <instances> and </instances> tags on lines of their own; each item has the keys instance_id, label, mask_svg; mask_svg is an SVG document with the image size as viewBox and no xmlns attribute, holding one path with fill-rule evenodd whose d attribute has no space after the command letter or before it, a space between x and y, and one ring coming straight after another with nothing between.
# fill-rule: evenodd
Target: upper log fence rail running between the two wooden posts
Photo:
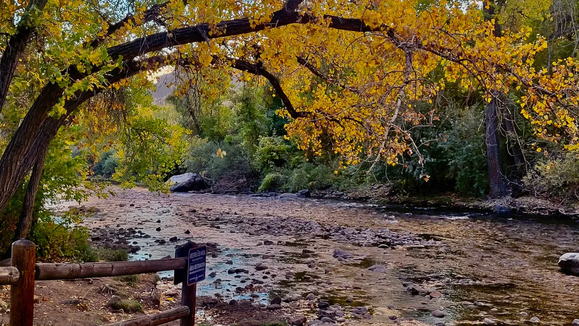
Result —
<instances>
[{"instance_id":1,"label":"upper log fence rail running between the two wooden posts","mask_svg":"<svg viewBox=\"0 0 579 326\"><path fill-rule=\"evenodd\" d=\"M187 258L102 263L36 263L36 281L91 279L164 272L187 267Z\"/></svg>"}]
</instances>

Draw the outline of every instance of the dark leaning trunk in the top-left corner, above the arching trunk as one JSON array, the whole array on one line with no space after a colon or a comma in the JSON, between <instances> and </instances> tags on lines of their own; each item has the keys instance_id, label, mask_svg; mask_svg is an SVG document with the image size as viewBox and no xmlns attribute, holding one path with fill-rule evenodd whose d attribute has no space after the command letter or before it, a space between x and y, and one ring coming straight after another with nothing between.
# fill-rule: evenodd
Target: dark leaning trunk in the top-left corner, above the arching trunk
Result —
<instances>
[{"instance_id":1,"label":"dark leaning trunk in the top-left corner, above the arching trunk","mask_svg":"<svg viewBox=\"0 0 579 326\"><path fill-rule=\"evenodd\" d=\"M30 36L36 29L34 14L36 10L44 9L46 2L47 0L31 0L30 3L28 3L28 8L22 15L22 19L16 29L16 34L10 37L10 41L8 41L6 49L4 53L2 53L2 58L0 59L0 112L2 112L2 108L6 102L8 88L14 77L14 71L16 71L18 61L26 45L30 42Z\"/></svg>"}]
</instances>

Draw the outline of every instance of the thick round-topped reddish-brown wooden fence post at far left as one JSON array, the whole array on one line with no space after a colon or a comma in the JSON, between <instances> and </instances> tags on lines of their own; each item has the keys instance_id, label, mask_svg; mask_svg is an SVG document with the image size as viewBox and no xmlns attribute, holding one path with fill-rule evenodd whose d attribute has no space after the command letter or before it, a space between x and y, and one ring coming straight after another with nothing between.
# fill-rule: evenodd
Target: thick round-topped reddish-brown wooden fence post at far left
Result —
<instances>
[{"instance_id":1,"label":"thick round-topped reddish-brown wooden fence post at far left","mask_svg":"<svg viewBox=\"0 0 579 326\"><path fill-rule=\"evenodd\" d=\"M34 323L34 264L36 246L28 240L12 244L12 266L20 270L20 279L10 285L10 326L32 326Z\"/></svg>"}]
</instances>

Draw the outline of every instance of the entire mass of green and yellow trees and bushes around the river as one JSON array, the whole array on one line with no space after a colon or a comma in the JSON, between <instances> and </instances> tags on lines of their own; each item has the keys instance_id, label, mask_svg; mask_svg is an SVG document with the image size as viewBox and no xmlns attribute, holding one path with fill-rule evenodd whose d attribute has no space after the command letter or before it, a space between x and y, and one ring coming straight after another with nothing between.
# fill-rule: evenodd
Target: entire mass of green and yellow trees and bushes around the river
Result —
<instances>
[{"instance_id":1,"label":"entire mass of green and yellow trees and bushes around the river","mask_svg":"<svg viewBox=\"0 0 579 326\"><path fill-rule=\"evenodd\" d=\"M90 211L50 204L184 172L222 193L577 203L576 2L0 8L2 252L78 256Z\"/></svg>"}]
</instances>

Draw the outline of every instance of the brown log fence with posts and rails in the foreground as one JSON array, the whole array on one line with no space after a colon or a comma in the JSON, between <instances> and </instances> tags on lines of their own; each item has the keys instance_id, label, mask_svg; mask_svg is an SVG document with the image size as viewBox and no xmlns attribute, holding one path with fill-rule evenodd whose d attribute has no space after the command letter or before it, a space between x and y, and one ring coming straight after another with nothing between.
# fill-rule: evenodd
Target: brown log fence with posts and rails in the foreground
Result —
<instances>
[{"instance_id":1,"label":"brown log fence with posts and rails in the foreground","mask_svg":"<svg viewBox=\"0 0 579 326\"><path fill-rule=\"evenodd\" d=\"M34 321L34 281L89 279L175 271L175 284L183 279L181 306L164 312L133 318L104 326L155 326L181 320L181 326L195 325L197 284L187 285L178 275L185 274L188 251L186 243L175 250L175 257L152 261L102 263L36 263L36 246L28 240L12 244L12 266L0 267L0 285L10 285L10 326L32 326Z\"/></svg>"}]
</instances>

